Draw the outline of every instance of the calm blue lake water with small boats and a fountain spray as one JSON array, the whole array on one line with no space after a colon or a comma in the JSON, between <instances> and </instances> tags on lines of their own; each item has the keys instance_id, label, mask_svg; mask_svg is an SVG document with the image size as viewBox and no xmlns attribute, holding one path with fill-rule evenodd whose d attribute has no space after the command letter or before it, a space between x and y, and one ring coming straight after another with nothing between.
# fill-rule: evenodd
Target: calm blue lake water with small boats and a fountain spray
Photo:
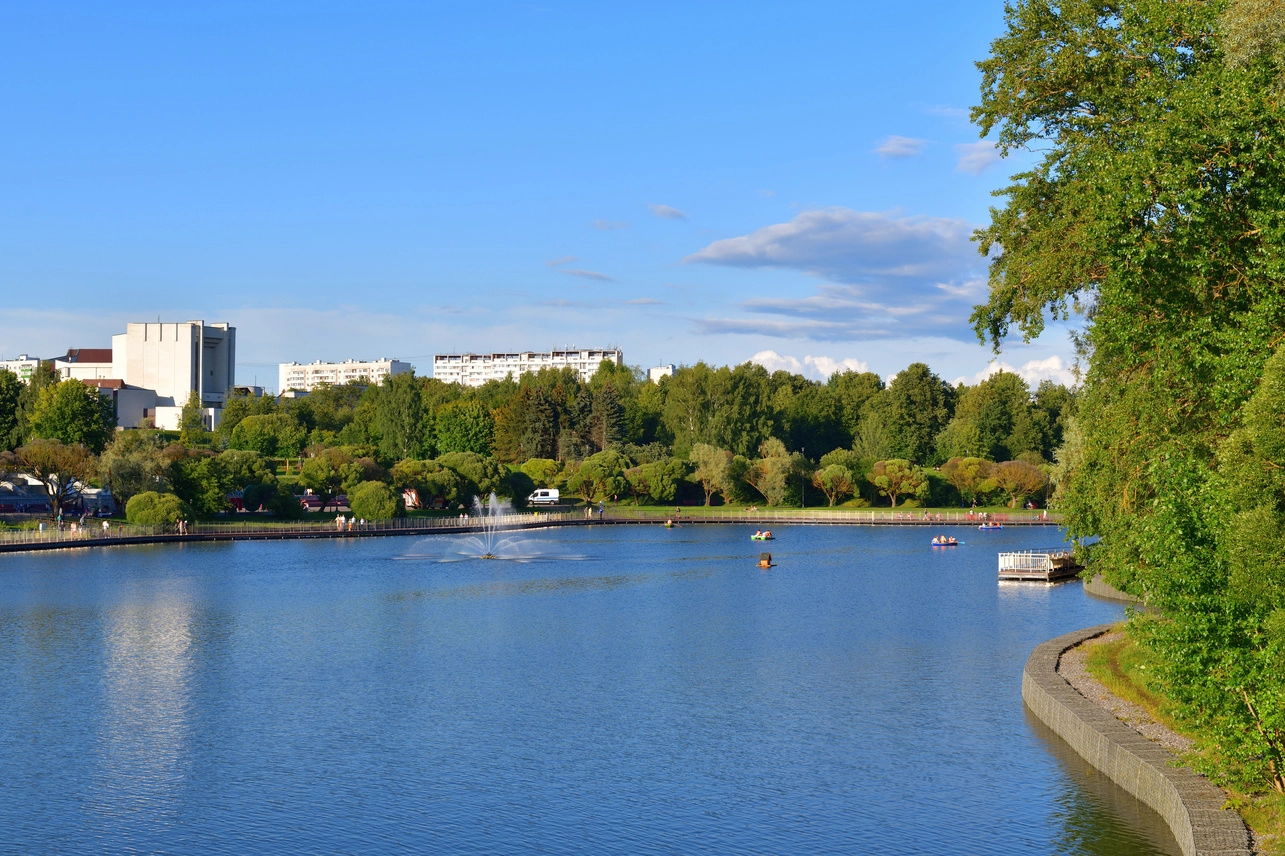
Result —
<instances>
[{"instance_id":1,"label":"calm blue lake water with small boats and a fountain spray","mask_svg":"<svg viewBox=\"0 0 1285 856\"><path fill-rule=\"evenodd\" d=\"M0 555L0 852L1176 852L1020 700L1121 608L956 531Z\"/></svg>"}]
</instances>

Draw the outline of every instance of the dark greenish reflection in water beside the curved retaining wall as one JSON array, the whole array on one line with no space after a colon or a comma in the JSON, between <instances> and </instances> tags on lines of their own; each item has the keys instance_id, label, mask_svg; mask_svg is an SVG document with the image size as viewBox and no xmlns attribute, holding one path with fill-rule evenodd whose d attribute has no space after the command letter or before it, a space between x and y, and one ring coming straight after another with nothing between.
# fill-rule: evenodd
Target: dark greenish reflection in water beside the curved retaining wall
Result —
<instances>
[{"instance_id":1,"label":"dark greenish reflection in water beside the curved retaining wall","mask_svg":"<svg viewBox=\"0 0 1285 856\"><path fill-rule=\"evenodd\" d=\"M1065 774L1051 820L1061 824L1055 852L1101 856L1180 856L1168 824L1146 803L1085 761L1029 709L1027 725Z\"/></svg>"}]
</instances>

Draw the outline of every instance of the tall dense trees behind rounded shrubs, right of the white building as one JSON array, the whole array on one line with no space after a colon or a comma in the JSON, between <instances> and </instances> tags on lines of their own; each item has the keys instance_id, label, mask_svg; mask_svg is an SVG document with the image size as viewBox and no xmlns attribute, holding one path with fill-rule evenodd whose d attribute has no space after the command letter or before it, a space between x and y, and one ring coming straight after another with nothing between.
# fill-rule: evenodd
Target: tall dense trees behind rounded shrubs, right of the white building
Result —
<instances>
[{"instance_id":1,"label":"tall dense trees behind rounded shrubs, right of the white building","mask_svg":"<svg viewBox=\"0 0 1285 856\"><path fill-rule=\"evenodd\" d=\"M873 373L816 382L753 364L703 362L655 384L637 369L604 361L587 383L571 369L477 388L402 374L281 401L234 396L215 442L283 458L361 446L389 467L452 452L506 464L574 461L609 449L636 461L686 460L702 443L748 458L770 440L813 459L844 449L917 465L951 458L1040 463L1052 460L1073 406L1073 393L1052 382L1032 392L1000 371L952 387L919 362L889 384Z\"/></svg>"}]
</instances>

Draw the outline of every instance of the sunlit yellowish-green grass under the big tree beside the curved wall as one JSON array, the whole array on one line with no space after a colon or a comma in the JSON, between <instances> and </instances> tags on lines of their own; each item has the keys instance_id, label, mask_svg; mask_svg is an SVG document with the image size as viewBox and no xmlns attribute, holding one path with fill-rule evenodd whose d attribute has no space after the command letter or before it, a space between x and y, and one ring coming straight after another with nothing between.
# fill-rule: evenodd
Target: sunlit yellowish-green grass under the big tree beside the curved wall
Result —
<instances>
[{"instance_id":1,"label":"sunlit yellowish-green grass under the big tree beside the curved wall","mask_svg":"<svg viewBox=\"0 0 1285 856\"><path fill-rule=\"evenodd\" d=\"M1123 626L1122 626L1123 627ZM1171 731L1194 736L1191 729L1176 720L1172 706L1159 691L1154 675L1155 657L1128 636L1114 641L1090 641L1085 666L1106 689L1132 702ZM1246 794L1227 790L1227 807L1234 808L1254 830L1258 848L1270 856L1285 856L1285 794Z\"/></svg>"}]
</instances>

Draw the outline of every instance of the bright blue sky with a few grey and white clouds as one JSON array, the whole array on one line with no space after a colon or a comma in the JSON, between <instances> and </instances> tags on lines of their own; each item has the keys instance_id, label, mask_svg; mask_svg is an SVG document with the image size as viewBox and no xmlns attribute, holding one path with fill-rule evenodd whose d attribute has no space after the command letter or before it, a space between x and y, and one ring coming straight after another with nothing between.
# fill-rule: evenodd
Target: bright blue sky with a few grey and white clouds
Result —
<instances>
[{"instance_id":1,"label":"bright blue sky with a few grey and white clouds","mask_svg":"<svg viewBox=\"0 0 1285 856\"><path fill-rule=\"evenodd\" d=\"M281 361L621 347L824 378L996 356L968 111L1001 0L10 4L0 357L229 321Z\"/></svg>"}]
</instances>

